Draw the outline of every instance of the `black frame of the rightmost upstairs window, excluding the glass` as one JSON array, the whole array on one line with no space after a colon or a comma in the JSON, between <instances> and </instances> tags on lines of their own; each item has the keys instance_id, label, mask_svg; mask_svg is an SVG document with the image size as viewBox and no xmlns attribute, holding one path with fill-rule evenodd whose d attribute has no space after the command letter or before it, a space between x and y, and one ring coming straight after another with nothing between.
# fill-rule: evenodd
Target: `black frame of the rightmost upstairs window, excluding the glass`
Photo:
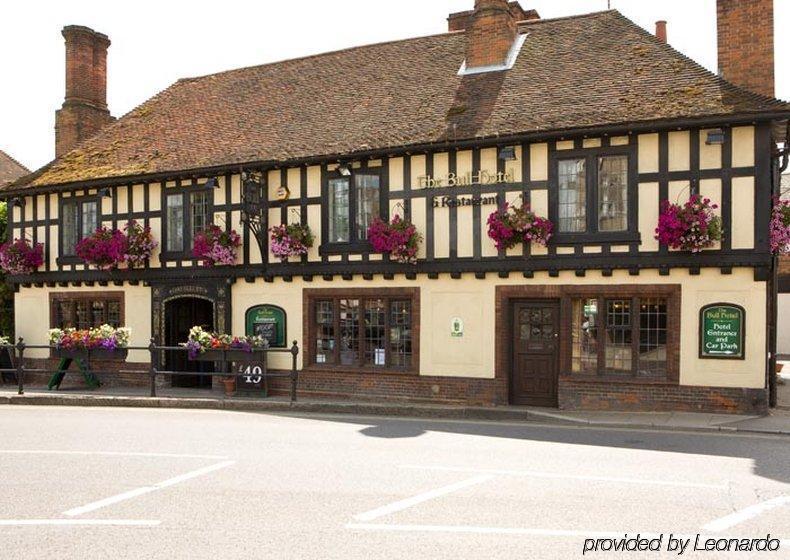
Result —
<instances>
[{"instance_id":1,"label":"black frame of the rightmost upstairs window, excluding the glass","mask_svg":"<svg viewBox=\"0 0 790 560\"><path fill-rule=\"evenodd\" d=\"M600 231L598 216L598 161L600 158L625 156L628 161L626 169L626 229L622 231ZM599 148L581 148L573 150L555 150L550 161L549 178L549 219L557 224L553 241L557 244L581 244L594 242L631 243L639 242L639 204L637 154L634 145L607 146ZM561 161L584 159L585 161L585 210L586 230L584 232L559 231L559 166Z\"/></svg>"}]
</instances>

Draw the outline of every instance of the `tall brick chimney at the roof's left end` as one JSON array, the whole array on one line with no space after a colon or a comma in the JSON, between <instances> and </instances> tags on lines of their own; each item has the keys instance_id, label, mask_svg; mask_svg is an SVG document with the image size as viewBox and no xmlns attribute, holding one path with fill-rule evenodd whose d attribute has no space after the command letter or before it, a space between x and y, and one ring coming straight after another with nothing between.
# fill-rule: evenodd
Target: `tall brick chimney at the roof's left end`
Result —
<instances>
[{"instance_id":1,"label":"tall brick chimney at the roof's left end","mask_svg":"<svg viewBox=\"0 0 790 560\"><path fill-rule=\"evenodd\" d=\"M55 157L71 151L114 119L107 109L107 48L110 39L81 25L63 28L66 99L55 112Z\"/></svg>"}]
</instances>

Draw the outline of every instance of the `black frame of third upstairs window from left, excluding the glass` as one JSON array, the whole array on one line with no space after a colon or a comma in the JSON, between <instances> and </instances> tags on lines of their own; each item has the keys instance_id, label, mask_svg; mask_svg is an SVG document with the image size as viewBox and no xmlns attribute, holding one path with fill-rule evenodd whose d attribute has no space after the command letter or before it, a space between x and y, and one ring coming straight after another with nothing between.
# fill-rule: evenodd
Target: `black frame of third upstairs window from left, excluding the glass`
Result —
<instances>
[{"instance_id":1,"label":"black frame of third upstairs window from left, excluding the glass","mask_svg":"<svg viewBox=\"0 0 790 560\"><path fill-rule=\"evenodd\" d=\"M379 216L383 220L389 220L389 208L387 200L389 198L389 185L385 177L386 173L383 172L381 167L367 167L363 165L359 168L349 166L351 175L343 176L336 169L324 173L321 184L322 200L325 202L321 205L321 239L323 240L321 246L318 248L320 255L332 255L343 253L364 253L370 252L371 246L367 239L360 239L357 232L357 185L356 177L358 175L372 175L378 177L379 180ZM348 226L349 226L349 240L343 242L329 241L329 184L336 179L348 179L349 192L348 192Z\"/></svg>"}]
</instances>

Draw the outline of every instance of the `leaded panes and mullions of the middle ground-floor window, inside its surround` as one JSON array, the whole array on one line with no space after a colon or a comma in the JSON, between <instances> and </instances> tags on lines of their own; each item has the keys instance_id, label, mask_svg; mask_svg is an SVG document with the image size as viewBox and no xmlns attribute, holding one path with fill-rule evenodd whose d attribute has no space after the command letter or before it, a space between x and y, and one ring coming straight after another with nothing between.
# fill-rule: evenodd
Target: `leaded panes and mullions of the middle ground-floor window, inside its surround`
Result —
<instances>
[{"instance_id":1,"label":"leaded panes and mullions of the middle ground-floor window, inside its surround","mask_svg":"<svg viewBox=\"0 0 790 560\"><path fill-rule=\"evenodd\" d=\"M317 366L413 371L413 293L311 298L309 345Z\"/></svg>"}]
</instances>

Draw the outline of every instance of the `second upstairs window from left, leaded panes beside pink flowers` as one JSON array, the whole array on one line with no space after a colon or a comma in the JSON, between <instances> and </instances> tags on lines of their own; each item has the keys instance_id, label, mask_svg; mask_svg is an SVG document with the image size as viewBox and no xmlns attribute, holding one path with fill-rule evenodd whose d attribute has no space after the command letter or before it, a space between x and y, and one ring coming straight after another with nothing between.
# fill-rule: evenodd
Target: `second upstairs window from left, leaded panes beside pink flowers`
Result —
<instances>
[{"instance_id":1,"label":"second upstairs window from left, leaded panes beside pink flowers","mask_svg":"<svg viewBox=\"0 0 790 560\"><path fill-rule=\"evenodd\" d=\"M212 190L174 192L165 197L165 250L190 253L195 235L212 224Z\"/></svg>"}]
</instances>

